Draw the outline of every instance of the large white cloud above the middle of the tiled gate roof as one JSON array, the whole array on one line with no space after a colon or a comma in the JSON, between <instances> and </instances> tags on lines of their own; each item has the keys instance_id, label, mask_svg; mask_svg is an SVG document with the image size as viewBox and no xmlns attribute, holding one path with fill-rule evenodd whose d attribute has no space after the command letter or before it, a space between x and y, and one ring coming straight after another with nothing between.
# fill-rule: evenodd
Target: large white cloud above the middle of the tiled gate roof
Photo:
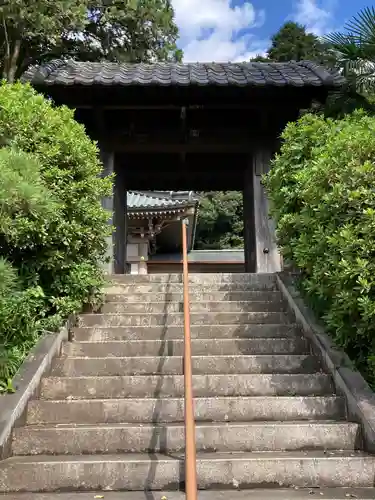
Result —
<instances>
[{"instance_id":1,"label":"large white cloud above the middle of the tiled gate roof","mask_svg":"<svg viewBox=\"0 0 375 500\"><path fill-rule=\"evenodd\" d=\"M264 22L264 11L245 1L233 7L231 0L172 0L180 31L179 45L185 62L249 60L264 53L267 42L249 29Z\"/></svg>"}]
</instances>

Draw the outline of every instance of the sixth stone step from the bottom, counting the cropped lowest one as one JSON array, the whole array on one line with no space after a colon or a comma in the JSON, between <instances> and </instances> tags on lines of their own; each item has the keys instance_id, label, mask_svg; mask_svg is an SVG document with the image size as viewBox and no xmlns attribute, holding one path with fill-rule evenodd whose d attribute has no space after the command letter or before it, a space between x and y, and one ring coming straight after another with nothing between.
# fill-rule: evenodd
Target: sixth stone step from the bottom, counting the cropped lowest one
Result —
<instances>
[{"instance_id":1,"label":"sixth stone step from the bottom, counting the cropped lowest one","mask_svg":"<svg viewBox=\"0 0 375 500\"><path fill-rule=\"evenodd\" d=\"M138 356L138 357L98 357L55 359L51 375L113 376L113 375L181 375L181 356ZM237 356L193 356L193 372L201 374L239 373L315 373L319 361L312 355L299 354L259 354Z\"/></svg>"}]
</instances>

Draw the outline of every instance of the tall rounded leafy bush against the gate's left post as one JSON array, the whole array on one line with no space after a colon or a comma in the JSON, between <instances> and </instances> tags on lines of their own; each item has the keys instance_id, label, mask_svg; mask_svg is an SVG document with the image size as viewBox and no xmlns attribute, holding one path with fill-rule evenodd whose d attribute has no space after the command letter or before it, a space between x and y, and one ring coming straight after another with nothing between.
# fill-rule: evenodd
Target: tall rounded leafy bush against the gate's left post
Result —
<instances>
[{"instance_id":1,"label":"tall rounded leafy bush against the gate's left post","mask_svg":"<svg viewBox=\"0 0 375 500\"><path fill-rule=\"evenodd\" d=\"M26 260L30 277L37 276L45 292L61 300L60 283L73 268L78 274L80 264L97 269L105 256L108 214L100 200L109 194L111 180L100 177L97 146L73 111L55 108L29 85L0 86L0 140L33 155L44 185L59 204L43 246L28 249L31 258ZM20 269L25 253L11 261ZM82 286L85 295L84 282Z\"/></svg>"}]
</instances>

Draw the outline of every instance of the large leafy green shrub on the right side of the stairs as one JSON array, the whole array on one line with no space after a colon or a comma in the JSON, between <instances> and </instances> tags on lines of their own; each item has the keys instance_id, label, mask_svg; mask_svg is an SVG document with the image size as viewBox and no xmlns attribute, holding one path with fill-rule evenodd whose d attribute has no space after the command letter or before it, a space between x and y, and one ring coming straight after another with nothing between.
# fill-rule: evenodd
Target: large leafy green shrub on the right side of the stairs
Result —
<instances>
[{"instance_id":1,"label":"large leafy green shrub on the right side of the stairs","mask_svg":"<svg viewBox=\"0 0 375 500\"><path fill-rule=\"evenodd\" d=\"M375 119L290 123L265 179L285 258L370 383L375 383Z\"/></svg>"}]
</instances>

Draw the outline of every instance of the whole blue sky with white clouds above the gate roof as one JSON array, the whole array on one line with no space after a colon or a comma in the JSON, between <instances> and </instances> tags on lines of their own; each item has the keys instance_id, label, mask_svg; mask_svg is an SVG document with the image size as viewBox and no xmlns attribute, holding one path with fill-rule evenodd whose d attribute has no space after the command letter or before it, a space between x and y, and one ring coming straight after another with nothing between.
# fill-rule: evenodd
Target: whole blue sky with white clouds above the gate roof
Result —
<instances>
[{"instance_id":1,"label":"whole blue sky with white clouds above the gate roof","mask_svg":"<svg viewBox=\"0 0 375 500\"><path fill-rule=\"evenodd\" d=\"M185 62L247 61L287 20L322 35L340 30L365 0L172 0ZM374 2L375 3L375 2Z\"/></svg>"}]
</instances>

